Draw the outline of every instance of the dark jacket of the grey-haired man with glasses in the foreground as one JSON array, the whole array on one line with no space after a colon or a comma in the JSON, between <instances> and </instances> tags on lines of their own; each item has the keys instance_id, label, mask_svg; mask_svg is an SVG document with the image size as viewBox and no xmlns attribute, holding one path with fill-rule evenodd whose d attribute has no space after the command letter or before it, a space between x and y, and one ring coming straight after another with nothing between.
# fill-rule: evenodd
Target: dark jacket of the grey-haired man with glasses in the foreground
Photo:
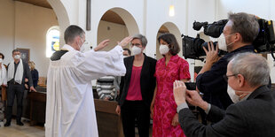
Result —
<instances>
[{"instance_id":1,"label":"dark jacket of the grey-haired man with glasses in the foreground","mask_svg":"<svg viewBox=\"0 0 275 137\"><path fill-rule=\"evenodd\" d=\"M234 103L225 111L211 105L204 126L191 110L179 111L179 123L187 137L273 137L275 135L275 94L266 86L255 89L246 101Z\"/></svg>"}]
</instances>

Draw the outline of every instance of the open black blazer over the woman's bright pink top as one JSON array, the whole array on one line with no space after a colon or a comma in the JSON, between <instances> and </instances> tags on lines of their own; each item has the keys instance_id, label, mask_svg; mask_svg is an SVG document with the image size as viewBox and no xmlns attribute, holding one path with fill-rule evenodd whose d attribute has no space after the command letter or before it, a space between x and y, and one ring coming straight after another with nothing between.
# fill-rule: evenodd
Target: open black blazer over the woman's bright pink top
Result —
<instances>
[{"instance_id":1,"label":"open black blazer over the woman's bright pink top","mask_svg":"<svg viewBox=\"0 0 275 137\"><path fill-rule=\"evenodd\" d=\"M145 54L144 54L145 55ZM155 72L156 60L152 57L147 57L145 55L145 60L142 65L141 73L140 73L140 89L142 99L145 104L150 107L152 99L153 99L153 91L156 85L155 77L153 76ZM126 67L126 74L122 77L121 85L120 85L120 95L118 98L118 104L123 105L128 89L130 86L130 77L132 72L132 67L134 63L134 56L124 58L124 65Z\"/></svg>"}]
</instances>

